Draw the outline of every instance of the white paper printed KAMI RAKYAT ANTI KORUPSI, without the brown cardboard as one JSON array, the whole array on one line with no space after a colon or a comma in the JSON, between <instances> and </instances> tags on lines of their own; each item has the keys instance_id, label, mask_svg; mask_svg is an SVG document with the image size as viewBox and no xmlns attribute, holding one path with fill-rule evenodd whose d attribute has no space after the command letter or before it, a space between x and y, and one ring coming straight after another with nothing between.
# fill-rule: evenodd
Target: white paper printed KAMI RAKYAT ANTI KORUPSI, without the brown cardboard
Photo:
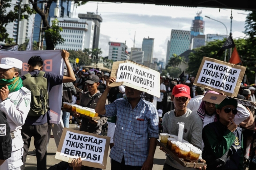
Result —
<instances>
[{"instance_id":1,"label":"white paper printed KAMI RAKYAT ANTI KORUPSI, without the brown cardboard","mask_svg":"<svg viewBox=\"0 0 256 170\"><path fill-rule=\"evenodd\" d=\"M135 64L122 63L119 64L116 82L127 82L132 85L146 88L154 91L156 83L156 75L147 68L138 67Z\"/></svg>"}]
</instances>

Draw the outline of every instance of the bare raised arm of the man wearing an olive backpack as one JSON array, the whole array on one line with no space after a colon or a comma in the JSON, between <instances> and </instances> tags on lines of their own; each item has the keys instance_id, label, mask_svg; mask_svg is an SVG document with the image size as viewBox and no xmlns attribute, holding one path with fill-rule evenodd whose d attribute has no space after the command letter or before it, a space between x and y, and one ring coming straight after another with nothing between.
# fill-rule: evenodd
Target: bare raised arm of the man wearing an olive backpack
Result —
<instances>
[{"instance_id":1,"label":"bare raised arm of the man wearing an olive backpack","mask_svg":"<svg viewBox=\"0 0 256 170\"><path fill-rule=\"evenodd\" d=\"M68 59L69 58L69 52L65 51L65 50L62 50L61 51L61 56L64 59L64 62L67 66L67 72L68 72L68 75L63 77L62 83L68 83L68 82L75 81L74 72L73 72L73 69L70 65L69 59Z\"/></svg>"}]
</instances>

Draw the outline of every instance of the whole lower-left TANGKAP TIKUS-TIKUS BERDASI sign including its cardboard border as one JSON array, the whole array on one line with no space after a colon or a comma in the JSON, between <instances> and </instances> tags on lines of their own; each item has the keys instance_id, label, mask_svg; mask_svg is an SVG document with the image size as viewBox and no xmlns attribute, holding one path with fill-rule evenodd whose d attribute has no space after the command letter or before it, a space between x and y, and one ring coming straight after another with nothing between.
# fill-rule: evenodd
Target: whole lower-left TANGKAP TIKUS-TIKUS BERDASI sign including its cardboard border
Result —
<instances>
[{"instance_id":1,"label":"whole lower-left TANGKAP TIKUS-TIKUS BERDASI sign including its cardboard border","mask_svg":"<svg viewBox=\"0 0 256 170\"><path fill-rule=\"evenodd\" d=\"M70 162L80 157L82 165L105 169L109 144L110 137L64 128L55 158Z\"/></svg>"}]
</instances>

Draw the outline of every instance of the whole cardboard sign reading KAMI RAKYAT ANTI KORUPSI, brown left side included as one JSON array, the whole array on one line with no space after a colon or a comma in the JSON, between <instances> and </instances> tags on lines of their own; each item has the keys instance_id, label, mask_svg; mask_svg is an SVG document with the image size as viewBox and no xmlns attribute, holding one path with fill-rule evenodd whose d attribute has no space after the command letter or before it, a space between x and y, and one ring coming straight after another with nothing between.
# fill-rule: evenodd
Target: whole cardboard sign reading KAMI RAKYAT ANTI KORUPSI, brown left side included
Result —
<instances>
[{"instance_id":1,"label":"whole cardboard sign reading KAMI RAKYAT ANTI KORUPSI, brown left side included","mask_svg":"<svg viewBox=\"0 0 256 170\"><path fill-rule=\"evenodd\" d=\"M156 97L160 96L160 74L153 69L128 60L118 61L113 63L111 76L116 77L116 82L111 87L126 85Z\"/></svg>"}]
</instances>

